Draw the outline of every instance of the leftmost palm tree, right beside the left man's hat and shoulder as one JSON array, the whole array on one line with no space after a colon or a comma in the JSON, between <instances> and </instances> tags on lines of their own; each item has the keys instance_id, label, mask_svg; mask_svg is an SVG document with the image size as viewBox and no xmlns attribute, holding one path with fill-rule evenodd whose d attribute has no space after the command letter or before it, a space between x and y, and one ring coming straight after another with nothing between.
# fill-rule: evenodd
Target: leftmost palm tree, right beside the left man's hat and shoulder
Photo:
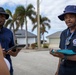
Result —
<instances>
[{"instance_id":1,"label":"leftmost palm tree, right beside the left man's hat and shoulder","mask_svg":"<svg viewBox=\"0 0 76 75\"><path fill-rule=\"evenodd\" d=\"M17 15L16 15L16 13L12 14L12 12L9 9L6 9L6 12L9 14L10 18L6 21L4 26L9 27L11 30L13 29L14 43L16 44L15 31L19 27L19 23L18 23L18 20L17 20Z\"/></svg>"}]
</instances>

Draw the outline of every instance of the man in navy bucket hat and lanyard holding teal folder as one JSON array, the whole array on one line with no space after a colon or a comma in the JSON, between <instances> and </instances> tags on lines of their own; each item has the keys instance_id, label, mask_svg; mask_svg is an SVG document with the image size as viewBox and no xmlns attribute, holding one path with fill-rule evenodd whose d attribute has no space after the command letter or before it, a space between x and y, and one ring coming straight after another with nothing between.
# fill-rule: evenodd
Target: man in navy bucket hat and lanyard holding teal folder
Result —
<instances>
[{"instance_id":1,"label":"man in navy bucket hat and lanyard holding teal folder","mask_svg":"<svg viewBox=\"0 0 76 75\"><path fill-rule=\"evenodd\" d=\"M68 5L58 18L65 21L67 25L67 29L60 36L60 49L76 52L76 5ZM52 53L51 51L50 54L60 58L55 75L76 75L76 55L69 56L58 52Z\"/></svg>"}]
</instances>

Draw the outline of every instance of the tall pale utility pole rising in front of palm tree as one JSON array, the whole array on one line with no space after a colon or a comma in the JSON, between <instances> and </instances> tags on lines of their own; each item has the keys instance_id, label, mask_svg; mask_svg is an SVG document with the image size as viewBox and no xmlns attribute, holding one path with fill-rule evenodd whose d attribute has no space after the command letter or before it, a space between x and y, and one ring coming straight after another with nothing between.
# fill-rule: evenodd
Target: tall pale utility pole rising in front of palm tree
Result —
<instances>
[{"instance_id":1,"label":"tall pale utility pole rising in front of palm tree","mask_svg":"<svg viewBox=\"0 0 76 75\"><path fill-rule=\"evenodd\" d=\"M40 49L40 9L39 9L39 0L37 0L37 44L38 49Z\"/></svg>"}]
</instances>

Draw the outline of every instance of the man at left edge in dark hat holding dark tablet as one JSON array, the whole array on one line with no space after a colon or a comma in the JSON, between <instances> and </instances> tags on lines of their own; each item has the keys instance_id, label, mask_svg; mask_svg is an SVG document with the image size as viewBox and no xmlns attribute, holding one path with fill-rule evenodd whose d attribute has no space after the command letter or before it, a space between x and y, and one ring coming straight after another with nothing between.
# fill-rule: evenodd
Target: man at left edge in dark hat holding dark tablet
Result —
<instances>
[{"instance_id":1,"label":"man at left edge in dark hat holding dark tablet","mask_svg":"<svg viewBox=\"0 0 76 75\"><path fill-rule=\"evenodd\" d=\"M12 50L7 51L10 47L14 46L13 33L11 30L3 26L8 18L9 15L2 7L0 7L0 44L3 48L4 57L10 62L10 75L13 75L13 67L10 55L16 56L19 50L16 50L15 52Z\"/></svg>"}]
</instances>

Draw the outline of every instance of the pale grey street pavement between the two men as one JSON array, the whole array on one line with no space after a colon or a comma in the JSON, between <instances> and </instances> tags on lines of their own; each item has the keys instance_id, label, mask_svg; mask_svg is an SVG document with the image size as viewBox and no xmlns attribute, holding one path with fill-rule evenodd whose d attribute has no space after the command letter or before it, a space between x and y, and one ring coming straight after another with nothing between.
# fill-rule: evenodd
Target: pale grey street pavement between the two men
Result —
<instances>
[{"instance_id":1,"label":"pale grey street pavement between the two men","mask_svg":"<svg viewBox=\"0 0 76 75\"><path fill-rule=\"evenodd\" d=\"M14 75L54 75L58 64L49 51L21 51L12 61Z\"/></svg>"}]
</instances>

